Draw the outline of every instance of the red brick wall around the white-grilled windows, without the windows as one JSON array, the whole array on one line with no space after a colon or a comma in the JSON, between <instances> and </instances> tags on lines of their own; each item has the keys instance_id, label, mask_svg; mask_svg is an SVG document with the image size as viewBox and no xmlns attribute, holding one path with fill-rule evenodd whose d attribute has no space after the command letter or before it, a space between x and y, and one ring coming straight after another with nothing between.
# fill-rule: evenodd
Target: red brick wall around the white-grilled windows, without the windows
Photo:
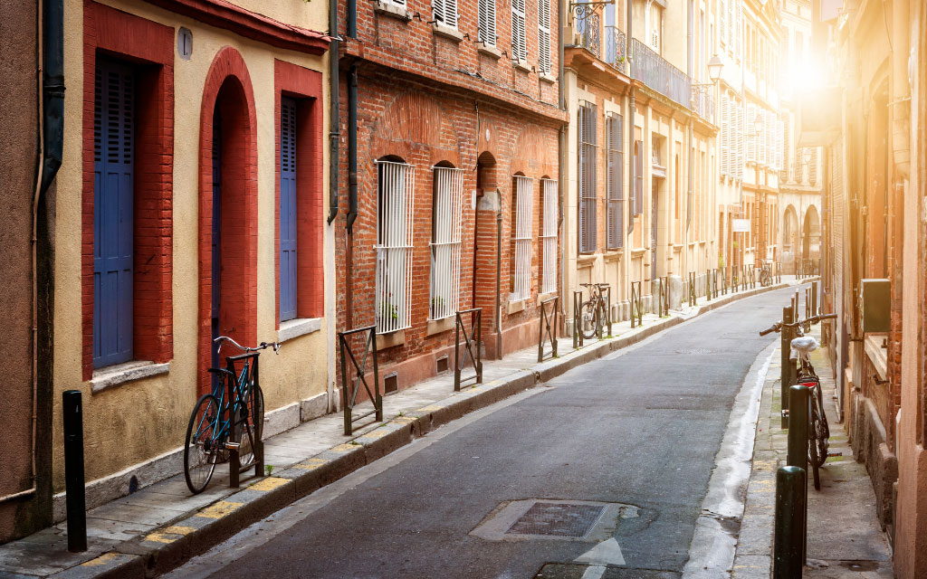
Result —
<instances>
[{"instance_id":1,"label":"red brick wall around the white-grilled windows, without the windows","mask_svg":"<svg viewBox=\"0 0 927 579\"><path fill-rule=\"evenodd\" d=\"M342 5L343 6L343 5ZM538 339L537 297L541 275L541 178L558 177L558 130L566 120L556 104L557 85L537 72L537 3L527 10L527 66L511 53L508 7L497 7L497 54L477 50L476 3L460 6L458 32L450 36L427 21L430 3L410 3L410 19L358 4L360 37L346 38L341 94L348 93L346 69L358 70L358 217L352 228L352 267L347 245L336 243L338 329L375 323L377 159L400 158L414 165L413 298L411 327L404 341L380 353L380 375L398 372L400 388L436 371L438 357L453 364L453 326L428 334L433 168L450 163L463 174L463 238L459 309L483 308L487 354L495 352L497 209L502 211L500 295L502 350L531 346ZM342 7L343 9L343 7ZM552 6L556 21L557 6ZM552 26L553 73L556 27ZM342 31L342 37L346 33ZM468 35L467 38L464 35ZM459 36L455 37L455 36ZM532 66L534 70L532 70ZM340 132L348 132L348 102L342 98ZM340 205L348 208L348 150L342 138ZM478 164L477 164L478 159ZM477 173L479 175L477 176ZM533 181L531 292L525 308L507 313L512 287L514 176ZM499 201L496 201L498 189ZM344 221L338 220L338 223ZM337 233L337 238L341 234ZM559 245L559 244L558 244ZM558 264L558 288L559 266ZM344 272L344 274L340 274ZM350 292L348 292L350 286ZM348 295L352 320L348 320ZM452 320L452 319L451 319Z\"/></svg>"}]
</instances>

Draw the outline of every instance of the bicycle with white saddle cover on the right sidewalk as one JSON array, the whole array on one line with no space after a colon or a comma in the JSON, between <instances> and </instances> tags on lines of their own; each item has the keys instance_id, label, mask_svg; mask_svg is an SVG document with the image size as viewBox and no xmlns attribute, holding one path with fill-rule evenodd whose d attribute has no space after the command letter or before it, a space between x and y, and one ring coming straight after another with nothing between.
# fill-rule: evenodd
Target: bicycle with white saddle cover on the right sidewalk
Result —
<instances>
[{"instance_id":1,"label":"bicycle with white saddle cover on the right sidewalk","mask_svg":"<svg viewBox=\"0 0 927 579\"><path fill-rule=\"evenodd\" d=\"M798 336L792 340L792 352L797 355L799 363L795 384L806 386L811 391L810 396L808 396L808 463L811 465L814 474L814 487L817 490L820 490L818 469L827 461L828 439L831 437L831 428L827 423L827 414L824 413L824 395L820 390L820 379L818 374L815 373L814 367L811 366L811 360L808 359L808 353L818 349L818 340L813 335L805 335L805 333L811 331L811 324L818 323L821 320L832 320L836 317L837 314L823 314L811 316L806 320L799 320L794 323L777 321L759 333L760 335L766 335L770 332L781 332L783 328L792 328Z\"/></svg>"}]
</instances>

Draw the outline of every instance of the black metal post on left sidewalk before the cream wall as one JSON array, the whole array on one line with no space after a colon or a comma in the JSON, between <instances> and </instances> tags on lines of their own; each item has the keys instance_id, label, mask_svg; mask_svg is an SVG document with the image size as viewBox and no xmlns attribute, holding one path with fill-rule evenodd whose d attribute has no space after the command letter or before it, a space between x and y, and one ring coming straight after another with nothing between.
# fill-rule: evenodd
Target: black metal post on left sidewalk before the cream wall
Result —
<instances>
[{"instance_id":1,"label":"black metal post on left sidewalk before the cream wall","mask_svg":"<svg viewBox=\"0 0 927 579\"><path fill-rule=\"evenodd\" d=\"M80 390L61 394L64 415L64 482L68 509L68 550L87 550L87 506L83 479L83 403Z\"/></svg>"}]
</instances>

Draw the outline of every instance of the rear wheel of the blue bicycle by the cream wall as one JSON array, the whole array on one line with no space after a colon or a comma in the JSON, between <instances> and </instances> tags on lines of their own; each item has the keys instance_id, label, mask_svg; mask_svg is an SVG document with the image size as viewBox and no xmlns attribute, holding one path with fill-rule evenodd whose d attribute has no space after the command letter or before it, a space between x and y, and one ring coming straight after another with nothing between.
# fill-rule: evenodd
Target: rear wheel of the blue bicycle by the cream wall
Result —
<instances>
[{"instance_id":1,"label":"rear wheel of the blue bicycle by the cream wall","mask_svg":"<svg viewBox=\"0 0 927 579\"><path fill-rule=\"evenodd\" d=\"M200 396L190 415L184 443L184 479L194 495L209 485L222 447L219 435L219 401L211 394Z\"/></svg>"}]
</instances>

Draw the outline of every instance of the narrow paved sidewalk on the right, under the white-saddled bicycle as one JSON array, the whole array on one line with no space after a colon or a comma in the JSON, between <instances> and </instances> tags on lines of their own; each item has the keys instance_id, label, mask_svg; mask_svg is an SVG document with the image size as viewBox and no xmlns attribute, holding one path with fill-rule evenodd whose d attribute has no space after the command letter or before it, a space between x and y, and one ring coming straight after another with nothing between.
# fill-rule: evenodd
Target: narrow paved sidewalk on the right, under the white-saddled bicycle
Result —
<instances>
[{"instance_id":1,"label":"narrow paved sidewalk on the right, under the white-saddled bicycle","mask_svg":"<svg viewBox=\"0 0 927 579\"><path fill-rule=\"evenodd\" d=\"M820 339L819 326L813 328L812 334ZM734 558L735 579L766 579L772 573L776 470L785 465L788 447L788 430L780 427L780 352L777 347L763 387L753 471ZM832 456L820 469L820 491L808 482L804 576L889 579L894 576L891 549L876 517L875 495L866 467L853 458L844 425L836 422L834 380L822 349L812 352L811 363L819 371L831 425L830 452L842 456Z\"/></svg>"}]
</instances>

